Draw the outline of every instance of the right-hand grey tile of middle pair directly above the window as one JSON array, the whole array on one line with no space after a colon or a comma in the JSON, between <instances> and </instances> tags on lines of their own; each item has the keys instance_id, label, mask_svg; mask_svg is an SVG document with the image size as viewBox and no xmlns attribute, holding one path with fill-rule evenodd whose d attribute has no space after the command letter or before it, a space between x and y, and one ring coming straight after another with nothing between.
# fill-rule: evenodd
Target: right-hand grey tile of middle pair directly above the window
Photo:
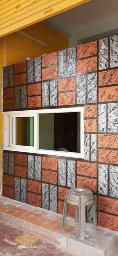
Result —
<instances>
[{"instance_id":1,"label":"right-hand grey tile of middle pair directly above the window","mask_svg":"<svg viewBox=\"0 0 118 256\"><path fill-rule=\"evenodd\" d=\"M50 106L57 106L57 80L50 81Z\"/></svg>"}]
</instances>

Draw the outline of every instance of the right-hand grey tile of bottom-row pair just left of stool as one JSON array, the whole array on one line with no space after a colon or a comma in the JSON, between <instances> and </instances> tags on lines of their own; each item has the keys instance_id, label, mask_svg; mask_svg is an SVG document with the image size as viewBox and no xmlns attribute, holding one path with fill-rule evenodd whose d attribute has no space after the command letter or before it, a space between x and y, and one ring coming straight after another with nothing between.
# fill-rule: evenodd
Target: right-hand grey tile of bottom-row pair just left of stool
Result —
<instances>
[{"instance_id":1,"label":"right-hand grey tile of bottom-row pair just left of stool","mask_svg":"<svg viewBox=\"0 0 118 256\"><path fill-rule=\"evenodd\" d=\"M57 186L49 186L49 210L57 212Z\"/></svg>"}]
</instances>

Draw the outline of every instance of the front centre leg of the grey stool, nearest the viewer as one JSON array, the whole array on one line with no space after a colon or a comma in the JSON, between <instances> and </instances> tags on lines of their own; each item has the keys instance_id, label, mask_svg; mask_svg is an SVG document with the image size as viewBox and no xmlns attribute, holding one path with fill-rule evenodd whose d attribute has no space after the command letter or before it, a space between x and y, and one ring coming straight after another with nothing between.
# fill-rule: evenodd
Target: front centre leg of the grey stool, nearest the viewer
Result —
<instances>
[{"instance_id":1,"label":"front centre leg of the grey stool, nearest the viewer","mask_svg":"<svg viewBox=\"0 0 118 256\"><path fill-rule=\"evenodd\" d=\"M83 240L85 236L85 204L84 196L80 196L79 202L79 239Z\"/></svg>"}]
</instances>

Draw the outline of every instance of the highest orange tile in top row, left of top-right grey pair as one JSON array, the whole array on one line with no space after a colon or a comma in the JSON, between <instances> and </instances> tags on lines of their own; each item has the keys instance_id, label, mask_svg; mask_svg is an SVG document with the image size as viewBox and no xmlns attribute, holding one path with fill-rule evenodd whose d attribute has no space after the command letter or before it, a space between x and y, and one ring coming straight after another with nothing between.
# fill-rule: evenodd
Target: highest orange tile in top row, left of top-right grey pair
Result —
<instances>
[{"instance_id":1,"label":"highest orange tile in top row, left of top-right grey pair","mask_svg":"<svg viewBox=\"0 0 118 256\"><path fill-rule=\"evenodd\" d=\"M94 56L97 53L97 41L77 46L77 58Z\"/></svg>"}]
</instances>

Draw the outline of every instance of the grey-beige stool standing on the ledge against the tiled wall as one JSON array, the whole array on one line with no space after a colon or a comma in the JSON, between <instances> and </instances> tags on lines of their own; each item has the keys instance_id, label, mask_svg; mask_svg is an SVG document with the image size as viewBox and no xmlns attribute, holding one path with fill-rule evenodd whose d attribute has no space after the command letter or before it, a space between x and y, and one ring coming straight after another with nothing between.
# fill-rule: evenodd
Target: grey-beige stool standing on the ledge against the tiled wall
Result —
<instances>
[{"instance_id":1,"label":"grey-beige stool standing on the ledge against the tiled wall","mask_svg":"<svg viewBox=\"0 0 118 256\"><path fill-rule=\"evenodd\" d=\"M75 222L79 223L79 239L82 240L85 236L85 206L92 204L94 230L96 230L97 227L96 211L92 191L87 188L79 188L79 191L76 189L78 188L70 188L66 193L62 213L61 229L64 232L67 203L75 205Z\"/></svg>"}]
</instances>

